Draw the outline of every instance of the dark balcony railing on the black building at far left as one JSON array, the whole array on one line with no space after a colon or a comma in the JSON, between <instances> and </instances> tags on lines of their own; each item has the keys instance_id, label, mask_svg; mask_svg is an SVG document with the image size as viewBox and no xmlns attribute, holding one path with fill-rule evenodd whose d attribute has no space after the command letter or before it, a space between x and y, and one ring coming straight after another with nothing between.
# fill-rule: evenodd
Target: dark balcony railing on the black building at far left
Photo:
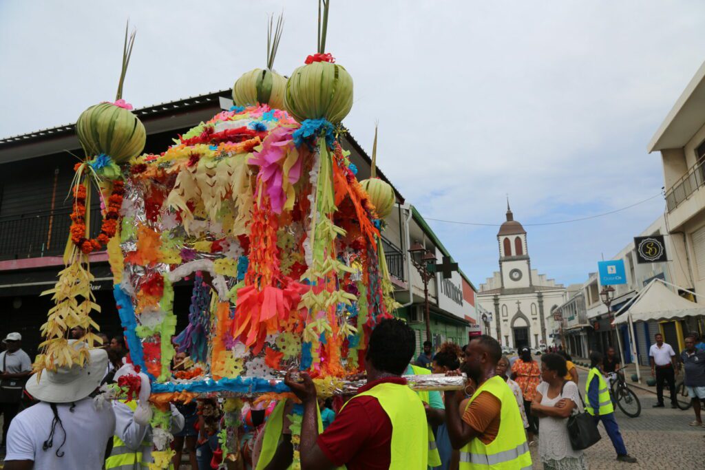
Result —
<instances>
[{"instance_id":1,"label":"dark balcony railing on the black building at far left","mask_svg":"<svg viewBox=\"0 0 705 470\"><path fill-rule=\"evenodd\" d=\"M70 211L41 211L0 217L0 260L60 256L66 248ZM99 207L91 209L90 233L99 233Z\"/></svg>"}]
</instances>

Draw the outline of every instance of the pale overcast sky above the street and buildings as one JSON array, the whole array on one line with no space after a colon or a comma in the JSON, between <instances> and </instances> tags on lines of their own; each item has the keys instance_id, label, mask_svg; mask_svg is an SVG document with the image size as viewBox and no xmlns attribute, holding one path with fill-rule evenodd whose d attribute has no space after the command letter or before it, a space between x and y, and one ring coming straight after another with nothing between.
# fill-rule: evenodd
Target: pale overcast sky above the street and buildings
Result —
<instances>
[{"instance_id":1,"label":"pale overcast sky above the street and buildings","mask_svg":"<svg viewBox=\"0 0 705 470\"><path fill-rule=\"evenodd\" d=\"M125 20L137 41L135 107L231 87L316 48L315 0L0 0L0 136L73 123L114 99ZM355 80L345 125L427 218L522 223L619 209L661 191L646 144L705 58L701 1L333 0L326 49ZM663 213L661 197L590 221L527 227L532 267L582 282ZM479 287L498 269L496 227L430 221Z\"/></svg>"}]
</instances>

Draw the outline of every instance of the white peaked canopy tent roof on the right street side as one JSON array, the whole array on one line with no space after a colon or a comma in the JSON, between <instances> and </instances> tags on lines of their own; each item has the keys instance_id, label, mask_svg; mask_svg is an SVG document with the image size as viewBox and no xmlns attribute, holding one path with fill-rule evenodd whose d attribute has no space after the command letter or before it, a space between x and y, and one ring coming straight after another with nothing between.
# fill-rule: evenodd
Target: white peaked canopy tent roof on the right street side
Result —
<instances>
[{"instance_id":1,"label":"white peaked canopy tent roof on the right street side","mask_svg":"<svg viewBox=\"0 0 705 470\"><path fill-rule=\"evenodd\" d=\"M705 306L680 297L666 287L665 281L654 279L639 292L631 305L625 305L620 310L612 323L627 323L630 315L632 321L682 319L705 315Z\"/></svg>"}]
</instances>

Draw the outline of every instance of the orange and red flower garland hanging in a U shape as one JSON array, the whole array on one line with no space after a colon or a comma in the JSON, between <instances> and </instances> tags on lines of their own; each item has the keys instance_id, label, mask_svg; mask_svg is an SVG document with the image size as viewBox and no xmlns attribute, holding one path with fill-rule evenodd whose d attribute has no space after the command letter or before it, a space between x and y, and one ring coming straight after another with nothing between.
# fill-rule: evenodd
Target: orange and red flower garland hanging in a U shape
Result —
<instances>
[{"instance_id":1,"label":"orange and red flower garland hanging in a U shape","mask_svg":"<svg viewBox=\"0 0 705 470\"><path fill-rule=\"evenodd\" d=\"M86 197L85 185L79 183L73 189L73 213L71 213L71 241L85 254L101 249L115 236L120 218L120 208L123 205L125 186L122 180L115 180L113 190L108 198L108 207L103 217L100 235L96 238L86 238Z\"/></svg>"}]
</instances>

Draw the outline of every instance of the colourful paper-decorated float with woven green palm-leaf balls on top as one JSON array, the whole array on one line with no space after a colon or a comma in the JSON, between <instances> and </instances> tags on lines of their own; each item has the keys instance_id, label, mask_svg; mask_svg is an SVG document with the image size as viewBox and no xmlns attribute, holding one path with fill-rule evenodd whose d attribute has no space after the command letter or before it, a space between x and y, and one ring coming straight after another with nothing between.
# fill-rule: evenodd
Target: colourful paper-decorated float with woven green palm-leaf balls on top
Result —
<instances>
[{"instance_id":1,"label":"colourful paper-decorated float with woven green palm-leaf balls on top","mask_svg":"<svg viewBox=\"0 0 705 470\"><path fill-rule=\"evenodd\" d=\"M358 181L339 142L353 80L325 52L327 18L325 1L317 54L288 80L273 70L281 18L270 21L267 66L235 82L235 106L159 154L142 153L145 128L121 97L135 39L125 30L116 101L92 106L76 125L85 160L75 167L66 268L47 292L56 306L35 368L85 361L85 349L68 347L75 326L86 331L85 348L99 341L89 255L106 249L129 359L151 381L154 469L173 455L169 402L221 400L224 467L238 456L243 402L293 398L283 383L292 368L307 371L323 397L354 392L360 382L346 377L364 372L369 334L396 309L380 236L395 194L374 170ZM374 147L376 156L376 131ZM91 197L103 217L94 238ZM178 332L173 285L184 280L192 297ZM177 351L195 366L173 369ZM412 383L438 390L462 379ZM140 381L116 387L132 395ZM296 443L300 416L291 422Z\"/></svg>"}]
</instances>

